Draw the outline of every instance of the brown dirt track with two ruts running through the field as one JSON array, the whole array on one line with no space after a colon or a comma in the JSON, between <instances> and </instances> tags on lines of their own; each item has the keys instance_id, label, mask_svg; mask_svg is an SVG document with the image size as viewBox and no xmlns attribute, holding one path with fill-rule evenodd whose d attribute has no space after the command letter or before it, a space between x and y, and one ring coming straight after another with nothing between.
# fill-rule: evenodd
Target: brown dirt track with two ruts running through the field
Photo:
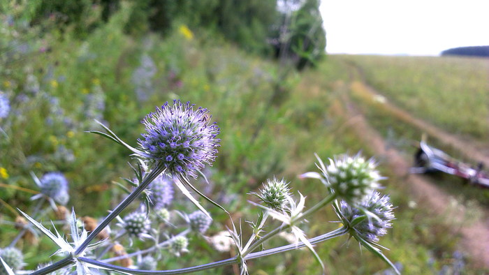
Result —
<instances>
[{"instance_id":1,"label":"brown dirt track with two ruts running through the field","mask_svg":"<svg viewBox=\"0 0 489 275\"><path fill-rule=\"evenodd\" d=\"M351 75L350 87L346 89L358 92L362 89L362 92L370 94L370 96L381 95L379 91L376 91L372 87L369 87L361 72L353 69L353 75ZM459 209L450 209L447 207L451 205L453 198L451 195L439 190L435 184L433 184L428 177L417 174L408 174L411 161L407 161L399 151L393 147L386 146L386 141L376 131L360 112L359 108L351 101L347 93L343 93L341 96L342 101L342 114L349 119L349 126L358 134L358 137L363 139L365 144L370 144L372 149L377 152L378 158L383 158L383 163L389 165L391 170L400 177L404 177L405 184L409 185L411 193L417 198L418 201L426 202L437 214L448 214L453 217L463 217L465 215L465 207L459 207ZM486 167L489 167L489 156L484 154L480 148L476 147L473 143L466 142L455 135L451 135L442 131L441 129L428 124L425 121L416 119L408 112L392 105L388 104L388 108L392 110L393 115L397 115L402 118L402 121L409 123L413 126L420 128L422 131L429 133L430 137L435 137L441 142L450 144L454 149L459 149L461 152L465 152L467 158L473 161L483 162ZM451 213L447 213L451 211ZM462 251L465 251L472 255L474 264L479 267L489 268L489 211L483 211L482 218L477 221L463 225L459 231L462 235L460 243Z\"/></svg>"}]
</instances>

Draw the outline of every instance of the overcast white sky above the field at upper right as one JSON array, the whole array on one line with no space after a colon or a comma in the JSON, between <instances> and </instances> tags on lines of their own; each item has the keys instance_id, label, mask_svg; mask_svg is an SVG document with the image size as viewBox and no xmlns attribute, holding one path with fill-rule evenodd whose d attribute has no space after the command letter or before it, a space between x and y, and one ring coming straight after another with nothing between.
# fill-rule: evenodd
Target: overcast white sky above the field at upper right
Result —
<instances>
[{"instance_id":1,"label":"overcast white sky above the field at upper right","mask_svg":"<svg viewBox=\"0 0 489 275\"><path fill-rule=\"evenodd\" d=\"M326 52L438 55L489 45L488 0L321 0Z\"/></svg>"}]
</instances>

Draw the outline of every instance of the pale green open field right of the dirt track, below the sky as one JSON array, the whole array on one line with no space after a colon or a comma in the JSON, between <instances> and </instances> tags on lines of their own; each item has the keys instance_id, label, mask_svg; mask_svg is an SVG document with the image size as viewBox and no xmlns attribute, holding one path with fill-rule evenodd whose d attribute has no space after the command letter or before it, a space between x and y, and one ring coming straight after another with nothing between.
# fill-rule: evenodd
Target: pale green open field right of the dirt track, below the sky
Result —
<instances>
[{"instance_id":1,"label":"pale green open field right of the dirt track, below the sky","mask_svg":"<svg viewBox=\"0 0 489 275\"><path fill-rule=\"evenodd\" d=\"M414 117L482 141L489 134L489 64L467 57L348 56L365 79Z\"/></svg>"}]
</instances>

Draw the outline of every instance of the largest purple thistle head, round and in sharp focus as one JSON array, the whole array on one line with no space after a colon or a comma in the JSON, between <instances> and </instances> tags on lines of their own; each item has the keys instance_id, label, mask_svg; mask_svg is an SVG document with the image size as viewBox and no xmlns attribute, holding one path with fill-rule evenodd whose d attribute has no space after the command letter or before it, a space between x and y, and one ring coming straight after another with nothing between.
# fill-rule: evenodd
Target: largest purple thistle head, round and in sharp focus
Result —
<instances>
[{"instance_id":1,"label":"largest purple thistle head, round and in sharp focus","mask_svg":"<svg viewBox=\"0 0 489 275\"><path fill-rule=\"evenodd\" d=\"M207 109L189 102L174 101L156 107L142 121L147 133L138 139L141 149L151 161L163 163L167 172L197 177L205 163L212 165L219 147L217 124L210 124Z\"/></svg>"}]
</instances>

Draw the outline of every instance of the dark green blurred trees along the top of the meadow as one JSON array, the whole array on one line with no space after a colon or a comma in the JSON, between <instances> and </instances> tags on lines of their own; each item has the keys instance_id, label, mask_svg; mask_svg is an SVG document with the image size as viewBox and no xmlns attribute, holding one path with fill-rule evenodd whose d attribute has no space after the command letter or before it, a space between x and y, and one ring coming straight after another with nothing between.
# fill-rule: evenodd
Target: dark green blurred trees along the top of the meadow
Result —
<instances>
[{"instance_id":1,"label":"dark green blurred trees along the top of the meadow","mask_svg":"<svg viewBox=\"0 0 489 275\"><path fill-rule=\"evenodd\" d=\"M49 17L82 38L123 2L131 6L124 28L131 35L165 36L183 23L214 31L247 51L291 60L299 69L314 65L325 52L319 0L51 0L36 6L33 23Z\"/></svg>"}]
</instances>

